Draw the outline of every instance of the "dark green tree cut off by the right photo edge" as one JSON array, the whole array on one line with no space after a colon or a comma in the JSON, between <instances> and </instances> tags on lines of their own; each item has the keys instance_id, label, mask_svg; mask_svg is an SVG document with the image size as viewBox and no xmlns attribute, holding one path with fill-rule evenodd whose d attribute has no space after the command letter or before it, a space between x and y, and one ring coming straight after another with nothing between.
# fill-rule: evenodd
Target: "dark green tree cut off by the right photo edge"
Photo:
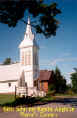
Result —
<instances>
[{"instance_id":1,"label":"dark green tree cut off by the right photo edge","mask_svg":"<svg viewBox=\"0 0 77 118\"><path fill-rule=\"evenodd\" d=\"M71 74L72 89L77 93L77 68L74 68L75 72Z\"/></svg>"}]
</instances>

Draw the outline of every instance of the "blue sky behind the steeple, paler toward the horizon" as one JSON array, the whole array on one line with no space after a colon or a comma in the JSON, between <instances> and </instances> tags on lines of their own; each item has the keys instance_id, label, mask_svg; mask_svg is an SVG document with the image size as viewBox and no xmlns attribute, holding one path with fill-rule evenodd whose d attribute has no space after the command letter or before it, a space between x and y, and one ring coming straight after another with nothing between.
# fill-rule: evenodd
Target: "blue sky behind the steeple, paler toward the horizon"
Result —
<instances>
[{"instance_id":1,"label":"blue sky behind the steeple, paler toward the horizon","mask_svg":"<svg viewBox=\"0 0 77 118\"><path fill-rule=\"evenodd\" d=\"M46 0L50 2L51 0ZM36 35L39 44L39 59L41 69L55 69L58 66L69 82L69 74L77 67L77 1L54 0L62 9L57 18L60 27L55 37L45 39ZM19 60L18 45L24 38L26 26L19 22L16 28L9 28L0 23L0 63L11 57L13 61Z\"/></svg>"}]
</instances>

